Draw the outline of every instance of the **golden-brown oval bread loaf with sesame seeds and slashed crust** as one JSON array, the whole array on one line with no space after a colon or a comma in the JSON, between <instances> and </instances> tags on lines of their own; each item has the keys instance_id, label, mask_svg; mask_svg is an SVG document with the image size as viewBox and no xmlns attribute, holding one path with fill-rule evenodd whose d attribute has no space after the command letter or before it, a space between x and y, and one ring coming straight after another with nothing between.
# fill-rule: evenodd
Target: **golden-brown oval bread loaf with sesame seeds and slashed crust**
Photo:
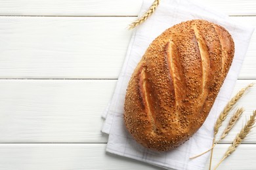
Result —
<instances>
[{"instance_id":1,"label":"golden-brown oval bread loaf with sesame seeds and slashed crust","mask_svg":"<svg viewBox=\"0 0 256 170\"><path fill-rule=\"evenodd\" d=\"M202 126L234 57L220 25L190 20L158 36L137 65L125 96L124 122L134 139L171 150Z\"/></svg>"}]
</instances>

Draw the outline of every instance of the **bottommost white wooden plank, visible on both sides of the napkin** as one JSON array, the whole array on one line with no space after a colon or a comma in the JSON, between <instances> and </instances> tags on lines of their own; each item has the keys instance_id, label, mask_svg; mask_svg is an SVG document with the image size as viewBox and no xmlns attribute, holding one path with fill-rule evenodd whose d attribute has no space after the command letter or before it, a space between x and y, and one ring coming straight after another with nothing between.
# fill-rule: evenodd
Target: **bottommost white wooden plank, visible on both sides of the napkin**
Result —
<instances>
[{"instance_id":1,"label":"bottommost white wooden plank, visible on both sides of the napkin","mask_svg":"<svg viewBox=\"0 0 256 170\"><path fill-rule=\"evenodd\" d=\"M213 165L229 144L218 144ZM161 169L105 152L106 144L0 144L1 169ZM255 169L256 144L241 144L218 169ZM207 169L208 164L205 165ZM162 169L163 170L163 169Z\"/></svg>"}]
</instances>

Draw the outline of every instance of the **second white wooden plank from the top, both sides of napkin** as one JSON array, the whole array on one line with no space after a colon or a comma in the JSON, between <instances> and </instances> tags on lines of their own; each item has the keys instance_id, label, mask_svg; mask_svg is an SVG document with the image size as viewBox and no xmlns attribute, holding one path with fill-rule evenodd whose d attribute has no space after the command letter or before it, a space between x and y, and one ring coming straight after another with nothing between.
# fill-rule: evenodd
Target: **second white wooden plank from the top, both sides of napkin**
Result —
<instances>
[{"instance_id":1,"label":"second white wooden plank from the top, both sides of napkin","mask_svg":"<svg viewBox=\"0 0 256 170\"><path fill-rule=\"evenodd\" d=\"M233 17L256 25L254 17ZM0 78L117 78L130 17L0 17ZM256 33L240 78L256 78Z\"/></svg>"}]
</instances>

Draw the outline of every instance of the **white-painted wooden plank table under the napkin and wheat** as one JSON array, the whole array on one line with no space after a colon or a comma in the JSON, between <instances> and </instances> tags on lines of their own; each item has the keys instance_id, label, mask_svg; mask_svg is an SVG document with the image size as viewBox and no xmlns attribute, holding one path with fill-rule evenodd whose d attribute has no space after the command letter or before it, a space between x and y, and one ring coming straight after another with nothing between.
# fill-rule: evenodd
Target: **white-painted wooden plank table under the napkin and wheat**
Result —
<instances>
[{"instance_id":1,"label":"white-painted wooden plank table under the napkin and wheat","mask_svg":"<svg viewBox=\"0 0 256 170\"><path fill-rule=\"evenodd\" d=\"M0 169L160 169L106 154L100 132L141 3L0 0ZM205 4L256 25L255 0ZM235 92L255 82L255 65L256 33ZM238 105L244 121L218 144L213 164L256 109L256 87ZM219 169L256 169L256 129Z\"/></svg>"}]
</instances>

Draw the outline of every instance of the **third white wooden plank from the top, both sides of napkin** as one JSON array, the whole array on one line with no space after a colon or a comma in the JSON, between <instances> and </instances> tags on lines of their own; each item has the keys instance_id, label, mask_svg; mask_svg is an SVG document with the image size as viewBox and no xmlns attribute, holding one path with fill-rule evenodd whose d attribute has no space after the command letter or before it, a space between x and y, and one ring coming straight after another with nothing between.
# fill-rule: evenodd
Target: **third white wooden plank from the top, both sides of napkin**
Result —
<instances>
[{"instance_id":1,"label":"third white wooden plank from the top, both sides of napkin","mask_svg":"<svg viewBox=\"0 0 256 170\"><path fill-rule=\"evenodd\" d=\"M234 93L250 82L238 80ZM106 143L101 114L115 85L116 80L0 80L0 143ZM246 112L223 143L232 141L256 109L255 96L256 86L239 101ZM256 129L245 143L256 143Z\"/></svg>"}]
</instances>

